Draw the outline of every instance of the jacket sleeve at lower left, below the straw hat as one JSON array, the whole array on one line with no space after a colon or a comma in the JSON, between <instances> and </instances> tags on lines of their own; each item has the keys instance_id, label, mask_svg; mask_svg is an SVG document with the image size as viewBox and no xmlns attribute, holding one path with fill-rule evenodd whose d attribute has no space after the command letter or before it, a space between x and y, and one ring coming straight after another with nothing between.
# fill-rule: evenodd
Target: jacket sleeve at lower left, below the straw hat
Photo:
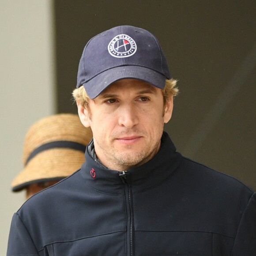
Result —
<instances>
[{"instance_id":1,"label":"jacket sleeve at lower left, below the straw hat","mask_svg":"<svg viewBox=\"0 0 256 256\"><path fill-rule=\"evenodd\" d=\"M11 220L7 256L38 256L38 251L19 215L15 213Z\"/></svg>"}]
</instances>

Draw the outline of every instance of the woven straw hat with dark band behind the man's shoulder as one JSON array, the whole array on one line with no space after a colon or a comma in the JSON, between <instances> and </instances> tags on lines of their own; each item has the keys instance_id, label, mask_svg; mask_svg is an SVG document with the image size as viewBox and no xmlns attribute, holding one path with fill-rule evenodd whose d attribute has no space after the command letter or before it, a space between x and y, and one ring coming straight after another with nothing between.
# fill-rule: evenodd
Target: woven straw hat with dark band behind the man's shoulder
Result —
<instances>
[{"instance_id":1,"label":"woven straw hat with dark band behind the man's shoulder","mask_svg":"<svg viewBox=\"0 0 256 256\"><path fill-rule=\"evenodd\" d=\"M12 191L72 174L85 161L85 147L91 138L91 129L81 124L78 115L56 114L38 120L26 134L24 169L12 181Z\"/></svg>"}]
</instances>

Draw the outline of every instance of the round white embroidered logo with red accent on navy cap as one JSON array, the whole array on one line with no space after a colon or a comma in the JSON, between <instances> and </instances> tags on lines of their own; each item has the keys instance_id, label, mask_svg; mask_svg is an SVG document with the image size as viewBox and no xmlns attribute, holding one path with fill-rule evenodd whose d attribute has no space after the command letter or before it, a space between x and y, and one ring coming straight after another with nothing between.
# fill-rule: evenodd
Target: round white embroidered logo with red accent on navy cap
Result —
<instances>
[{"instance_id":1,"label":"round white embroidered logo with red accent on navy cap","mask_svg":"<svg viewBox=\"0 0 256 256\"><path fill-rule=\"evenodd\" d=\"M136 42L126 34L114 37L108 45L109 54L116 58L125 58L136 53Z\"/></svg>"}]
</instances>

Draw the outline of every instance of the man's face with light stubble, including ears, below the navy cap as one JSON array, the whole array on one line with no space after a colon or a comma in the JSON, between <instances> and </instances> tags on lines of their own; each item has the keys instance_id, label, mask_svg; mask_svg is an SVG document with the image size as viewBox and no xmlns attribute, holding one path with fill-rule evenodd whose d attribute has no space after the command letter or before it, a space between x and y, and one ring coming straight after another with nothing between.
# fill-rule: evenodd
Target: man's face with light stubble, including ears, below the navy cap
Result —
<instances>
[{"instance_id":1,"label":"man's face with light stubble, including ears, below the navy cap","mask_svg":"<svg viewBox=\"0 0 256 256\"><path fill-rule=\"evenodd\" d=\"M110 169L124 171L157 153L173 98L164 106L161 89L122 79L89 100L88 110L79 104L78 108L82 123L92 129L98 159Z\"/></svg>"}]
</instances>

